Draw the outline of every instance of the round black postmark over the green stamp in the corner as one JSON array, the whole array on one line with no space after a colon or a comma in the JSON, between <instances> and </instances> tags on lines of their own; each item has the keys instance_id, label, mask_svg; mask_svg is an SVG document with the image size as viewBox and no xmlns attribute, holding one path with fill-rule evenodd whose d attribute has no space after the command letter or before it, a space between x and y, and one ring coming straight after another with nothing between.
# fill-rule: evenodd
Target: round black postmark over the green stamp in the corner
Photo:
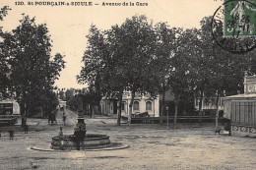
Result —
<instances>
[{"instance_id":1,"label":"round black postmark over the green stamp in the corner","mask_svg":"<svg viewBox=\"0 0 256 170\"><path fill-rule=\"evenodd\" d=\"M212 20L215 41L232 53L256 48L256 0L224 0Z\"/></svg>"}]
</instances>

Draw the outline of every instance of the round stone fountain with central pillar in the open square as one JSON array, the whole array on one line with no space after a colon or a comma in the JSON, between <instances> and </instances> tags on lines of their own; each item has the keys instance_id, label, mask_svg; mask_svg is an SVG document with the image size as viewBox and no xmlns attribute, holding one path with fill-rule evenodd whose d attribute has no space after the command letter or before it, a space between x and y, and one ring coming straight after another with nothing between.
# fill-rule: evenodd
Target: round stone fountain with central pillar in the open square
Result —
<instances>
[{"instance_id":1,"label":"round stone fountain with central pillar in the open square","mask_svg":"<svg viewBox=\"0 0 256 170\"><path fill-rule=\"evenodd\" d=\"M108 136L86 134L87 128L85 118L78 117L74 135L56 136L52 138L51 148L53 149L96 149L111 146Z\"/></svg>"}]
</instances>

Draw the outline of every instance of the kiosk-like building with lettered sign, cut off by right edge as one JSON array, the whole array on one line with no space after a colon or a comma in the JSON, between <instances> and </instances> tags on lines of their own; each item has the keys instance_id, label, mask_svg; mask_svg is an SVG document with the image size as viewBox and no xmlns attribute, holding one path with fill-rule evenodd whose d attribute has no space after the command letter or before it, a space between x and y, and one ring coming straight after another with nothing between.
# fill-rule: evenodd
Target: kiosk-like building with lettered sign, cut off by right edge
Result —
<instances>
[{"instance_id":1,"label":"kiosk-like building with lettered sign, cut off by right edge","mask_svg":"<svg viewBox=\"0 0 256 170\"><path fill-rule=\"evenodd\" d=\"M244 93L224 98L224 113L232 136L256 137L256 76L245 74Z\"/></svg>"}]
</instances>

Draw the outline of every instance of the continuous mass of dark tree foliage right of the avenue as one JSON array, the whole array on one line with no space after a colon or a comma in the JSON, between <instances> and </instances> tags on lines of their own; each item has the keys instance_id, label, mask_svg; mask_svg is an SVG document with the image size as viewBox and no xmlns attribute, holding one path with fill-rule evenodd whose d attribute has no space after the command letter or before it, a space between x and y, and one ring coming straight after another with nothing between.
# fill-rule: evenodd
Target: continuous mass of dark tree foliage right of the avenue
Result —
<instances>
[{"instance_id":1,"label":"continuous mass of dark tree foliage right of the avenue","mask_svg":"<svg viewBox=\"0 0 256 170\"><path fill-rule=\"evenodd\" d=\"M201 122L204 95L233 94L242 89L243 71L256 72L254 51L233 55L216 44L211 19L203 18L199 29L153 26L145 16L102 31L92 26L78 80L120 103L123 91L131 91L130 115L135 93L157 96L171 88L176 107L200 95Z\"/></svg>"}]
</instances>

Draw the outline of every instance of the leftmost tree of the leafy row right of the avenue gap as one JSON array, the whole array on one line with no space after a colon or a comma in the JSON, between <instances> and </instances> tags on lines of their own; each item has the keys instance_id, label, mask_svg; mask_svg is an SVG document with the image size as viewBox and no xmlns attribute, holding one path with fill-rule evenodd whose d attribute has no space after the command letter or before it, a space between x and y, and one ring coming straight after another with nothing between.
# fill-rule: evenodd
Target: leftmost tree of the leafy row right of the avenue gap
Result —
<instances>
[{"instance_id":1,"label":"leftmost tree of the leafy row right of the avenue gap","mask_svg":"<svg viewBox=\"0 0 256 170\"><path fill-rule=\"evenodd\" d=\"M109 55L109 51L104 34L95 25L91 26L87 38L88 46L83 56L84 67L77 80L80 84L88 84L101 98L102 90L107 89L103 82L106 73L104 68L107 67L104 59Z\"/></svg>"}]
</instances>

